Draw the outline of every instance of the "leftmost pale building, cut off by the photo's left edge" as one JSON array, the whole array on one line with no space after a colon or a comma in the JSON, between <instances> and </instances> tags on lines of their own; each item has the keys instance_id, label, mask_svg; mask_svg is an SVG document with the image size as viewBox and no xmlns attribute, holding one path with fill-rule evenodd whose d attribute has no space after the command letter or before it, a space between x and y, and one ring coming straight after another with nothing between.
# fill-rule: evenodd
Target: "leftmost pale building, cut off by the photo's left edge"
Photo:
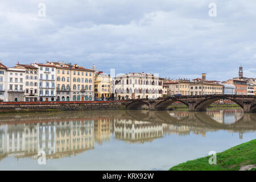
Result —
<instances>
[{"instance_id":1,"label":"leftmost pale building, cut off by the photo's left edge","mask_svg":"<svg viewBox=\"0 0 256 182\"><path fill-rule=\"evenodd\" d=\"M0 102L7 101L7 67L0 61Z\"/></svg>"}]
</instances>

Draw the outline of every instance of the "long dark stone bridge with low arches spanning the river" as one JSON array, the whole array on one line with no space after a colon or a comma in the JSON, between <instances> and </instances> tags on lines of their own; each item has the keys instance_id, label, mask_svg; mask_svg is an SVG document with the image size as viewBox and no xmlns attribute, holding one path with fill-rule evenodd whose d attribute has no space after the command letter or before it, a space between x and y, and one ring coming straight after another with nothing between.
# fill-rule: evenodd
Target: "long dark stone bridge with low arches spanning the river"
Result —
<instances>
[{"instance_id":1,"label":"long dark stone bridge with low arches spanning the river","mask_svg":"<svg viewBox=\"0 0 256 182\"><path fill-rule=\"evenodd\" d=\"M256 96L237 95L204 95L204 96L179 96L158 98L156 100L137 99L126 100L126 109L167 110L174 102L182 102L189 111L205 111L207 106L218 100L231 100L242 107L245 113L256 112Z\"/></svg>"}]
</instances>

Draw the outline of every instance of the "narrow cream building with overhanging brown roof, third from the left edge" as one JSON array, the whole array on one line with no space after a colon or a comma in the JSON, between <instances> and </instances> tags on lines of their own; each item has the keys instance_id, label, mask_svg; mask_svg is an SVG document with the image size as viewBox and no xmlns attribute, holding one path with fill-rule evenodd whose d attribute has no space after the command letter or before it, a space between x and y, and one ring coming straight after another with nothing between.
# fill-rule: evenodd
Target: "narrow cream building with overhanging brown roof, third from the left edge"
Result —
<instances>
[{"instance_id":1,"label":"narrow cream building with overhanging brown roof, third from the left edge","mask_svg":"<svg viewBox=\"0 0 256 182\"><path fill-rule=\"evenodd\" d=\"M38 101L38 68L26 64L16 64L15 68L25 69L24 101Z\"/></svg>"}]
</instances>

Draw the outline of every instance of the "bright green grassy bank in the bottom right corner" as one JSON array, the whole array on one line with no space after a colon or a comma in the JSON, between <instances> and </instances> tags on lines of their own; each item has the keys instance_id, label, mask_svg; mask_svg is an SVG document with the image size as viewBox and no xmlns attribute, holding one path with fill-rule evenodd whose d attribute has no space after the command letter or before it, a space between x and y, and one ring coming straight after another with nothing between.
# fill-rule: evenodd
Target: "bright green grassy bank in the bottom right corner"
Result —
<instances>
[{"instance_id":1,"label":"bright green grassy bank in the bottom right corner","mask_svg":"<svg viewBox=\"0 0 256 182\"><path fill-rule=\"evenodd\" d=\"M256 139L217 153L217 164L209 164L210 156L189 160L170 168L170 171L237 171L241 166L256 165ZM255 168L251 169L254 171Z\"/></svg>"}]
</instances>

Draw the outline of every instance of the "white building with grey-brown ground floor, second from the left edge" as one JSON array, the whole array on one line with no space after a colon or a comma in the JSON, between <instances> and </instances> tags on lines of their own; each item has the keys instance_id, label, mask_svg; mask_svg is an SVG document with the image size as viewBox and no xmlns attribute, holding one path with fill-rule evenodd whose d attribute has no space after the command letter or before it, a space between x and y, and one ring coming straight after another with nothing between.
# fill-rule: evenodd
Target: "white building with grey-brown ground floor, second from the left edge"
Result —
<instances>
[{"instance_id":1,"label":"white building with grey-brown ground floor, second from the left edge","mask_svg":"<svg viewBox=\"0 0 256 182\"><path fill-rule=\"evenodd\" d=\"M25 69L7 68L7 101L24 101L24 78Z\"/></svg>"}]
</instances>

